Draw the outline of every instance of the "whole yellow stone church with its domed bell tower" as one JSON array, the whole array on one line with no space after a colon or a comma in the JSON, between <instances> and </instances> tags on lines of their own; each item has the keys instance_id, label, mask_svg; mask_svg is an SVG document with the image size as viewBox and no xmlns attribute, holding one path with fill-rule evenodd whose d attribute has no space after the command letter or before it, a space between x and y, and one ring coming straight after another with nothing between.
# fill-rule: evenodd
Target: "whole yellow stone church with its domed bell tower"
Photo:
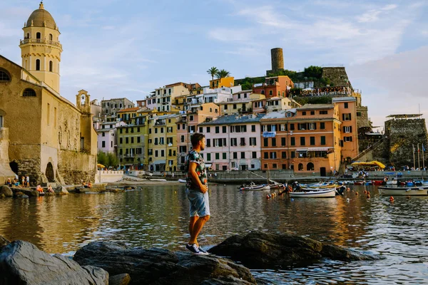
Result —
<instances>
[{"instance_id":1,"label":"whole yellow stone church with its domed bell tower","mask_svg":"<svg viewBox=\"0 0 428 285\"><path fill-rule=\"evenodd\" d=\"M9 129L11 169L33 183L93 181L97 135L90 95L80 90L73 105L58 93L62 47L43 4L23 29L25 68L0 56L0 116Z\"/></svg>"}]
</instances>

